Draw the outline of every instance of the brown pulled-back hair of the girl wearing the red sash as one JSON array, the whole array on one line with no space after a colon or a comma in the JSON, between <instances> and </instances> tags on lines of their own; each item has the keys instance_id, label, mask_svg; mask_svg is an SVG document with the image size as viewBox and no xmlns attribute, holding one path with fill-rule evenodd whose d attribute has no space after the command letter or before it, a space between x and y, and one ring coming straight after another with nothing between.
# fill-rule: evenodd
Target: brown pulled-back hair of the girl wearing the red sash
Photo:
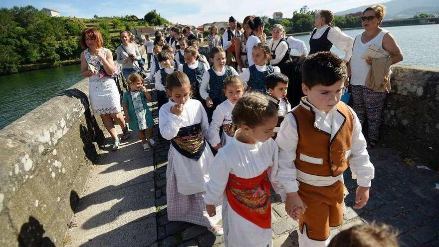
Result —
<instances>
[{"instance_id":1,"label":"brown pulled-back hair of the girl wearing the red sash","mask_svg":"<svg viewBox=\"0 0 439 247\"><path fill-rule=\"evenodd\" d=\"M261 93L249 93L236 102L233 107L232 120L236 126L242 124L254 128L263 124L269 117L277 116L277 105Z\"/></svg>"}]
</instances>

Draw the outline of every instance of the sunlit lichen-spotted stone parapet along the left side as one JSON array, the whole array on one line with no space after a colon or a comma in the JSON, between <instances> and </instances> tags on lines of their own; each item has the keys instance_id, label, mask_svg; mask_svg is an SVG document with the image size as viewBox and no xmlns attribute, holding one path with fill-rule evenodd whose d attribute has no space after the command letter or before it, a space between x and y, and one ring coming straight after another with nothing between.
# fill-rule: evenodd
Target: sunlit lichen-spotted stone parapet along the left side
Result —
<instances>
[{"instance_id":1,"label":"sunlit lichen-spotted stone parapet along the left side","mask_svg":"<svg viewBox=\"0 0 439 247\"><path fill-rule=\"evenodd\" d=\"M103 133L88 79L0 131L0 246L61 246Z\"/></svg>"}]
</instances>

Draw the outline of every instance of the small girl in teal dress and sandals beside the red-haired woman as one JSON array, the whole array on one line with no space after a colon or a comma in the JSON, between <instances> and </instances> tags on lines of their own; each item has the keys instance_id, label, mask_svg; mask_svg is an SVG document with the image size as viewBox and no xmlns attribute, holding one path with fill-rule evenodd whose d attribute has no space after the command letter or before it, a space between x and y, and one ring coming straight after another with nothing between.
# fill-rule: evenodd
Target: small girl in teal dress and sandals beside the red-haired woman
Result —
<instances>
[{"instance_id":1,"label":"small girl in teal dress and sandals beside the red-haired woman","mask_svg":"<svg viewBox=\"0 0 439 247\"><path fill-rule=\"evenodd\" d=\"M153 139L154 119L147 104L147 101L151 101L151 94L146 90L143 79L138 73L131 73L128 83L130 90L124 92L122 98L125 121L131 130L139 131L143 150L150 151L151 146L157 145Z\"/></svg>"}]
</instances>

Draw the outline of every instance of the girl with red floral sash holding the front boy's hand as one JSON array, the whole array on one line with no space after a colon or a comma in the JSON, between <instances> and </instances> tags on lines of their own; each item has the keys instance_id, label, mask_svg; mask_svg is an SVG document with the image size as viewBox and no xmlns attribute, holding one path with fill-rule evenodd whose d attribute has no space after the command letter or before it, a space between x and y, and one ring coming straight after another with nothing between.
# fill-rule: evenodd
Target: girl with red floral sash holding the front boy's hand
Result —
<instances>
[{"instance_id":1,"label":"girl with red floral sash holding the front boy's hand","mask_svg":"<svg viewBox=\"0 0 439 247\"><path fill-rule=\"evenodd\" d=\"M206 209L216 216L214 205L224 197L225 246L271 247L270 182L277 193L281 190L275 181L278 148L271 138L277 106L265 95L250 93L237 101L232 115L239 129L209 169Z\"/></svg>"}]
</instances>

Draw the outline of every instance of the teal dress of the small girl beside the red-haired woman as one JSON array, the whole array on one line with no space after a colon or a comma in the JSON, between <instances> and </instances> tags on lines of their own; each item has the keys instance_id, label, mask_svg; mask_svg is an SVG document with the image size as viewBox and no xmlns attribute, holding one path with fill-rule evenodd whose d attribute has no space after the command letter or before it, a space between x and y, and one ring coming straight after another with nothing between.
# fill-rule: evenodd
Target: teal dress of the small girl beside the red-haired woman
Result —
<instances>
[{"instance_id":1,"label":"teal dress of the small girl beside the red-haired woman","mask_svg":"<svg viewBox=\"0 0 439 247\"><path fill-rule=\"evenodd\" d=\"M144 130L154 126L153 116L141 90L124 92L122 103L128 104L128 113L125 114L130 116L128 127L131 130Z\"/></svg>"}]
</instances>

